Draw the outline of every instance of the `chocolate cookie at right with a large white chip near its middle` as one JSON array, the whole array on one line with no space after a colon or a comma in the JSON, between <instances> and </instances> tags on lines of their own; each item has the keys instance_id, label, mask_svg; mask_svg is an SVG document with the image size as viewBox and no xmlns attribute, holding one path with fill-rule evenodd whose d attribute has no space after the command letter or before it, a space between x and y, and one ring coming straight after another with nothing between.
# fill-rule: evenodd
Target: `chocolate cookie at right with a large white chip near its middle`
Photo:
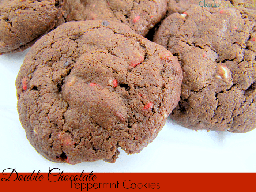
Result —
<instances>
[{"instance_id":1,"label":"chocolate cookie at right with a large white chip near its middle","mask_svg":"<svg viewBox=\"0 0 256 192\"><path fill-rule=\"evenodd\" d=\"M256 126L256 13L195 8L167 17L154 37L177 56L184 80L173 118L191 129Z\"/></svg>"}]
</instances>

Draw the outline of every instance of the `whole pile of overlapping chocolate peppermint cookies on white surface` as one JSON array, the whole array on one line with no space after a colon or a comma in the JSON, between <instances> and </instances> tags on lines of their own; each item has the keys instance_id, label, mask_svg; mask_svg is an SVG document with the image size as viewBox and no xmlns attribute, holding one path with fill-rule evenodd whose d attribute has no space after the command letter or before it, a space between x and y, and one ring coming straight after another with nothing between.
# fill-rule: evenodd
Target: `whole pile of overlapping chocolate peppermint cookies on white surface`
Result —
<instances>
[{"instance_id":1,"label":"whole pile of overlapping chocolate peppermint cookies on white surface","mask_svg":"<svg viewBox=\"0 0 256 192\"><path fill-rule=\"evenodd\" d=\"M1 54L35 43L16 79L30 143L54 162L115 162L170 113L195 130L254 129L255 7L212 3L0 1Z\"/></svg>"}]
</instances>

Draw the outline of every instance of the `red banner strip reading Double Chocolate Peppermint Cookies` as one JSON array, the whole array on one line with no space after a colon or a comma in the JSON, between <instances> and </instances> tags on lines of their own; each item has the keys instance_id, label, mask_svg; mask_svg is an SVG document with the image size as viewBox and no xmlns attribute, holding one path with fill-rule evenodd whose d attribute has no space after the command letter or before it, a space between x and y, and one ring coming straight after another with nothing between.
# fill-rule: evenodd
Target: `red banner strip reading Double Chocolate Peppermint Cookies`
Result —
<instances>
[{"instance_id":1,"label":"red banner strip reading Double Chocolate Peppermint Cookies","mask_svg":"<svg viewBox=\"0 0 256 192\"><path fill-rule=\"evenodd\" d=\"M256 173L18 173L0 174L1 191L251 191Z\"/></svg>"}]
</instances>

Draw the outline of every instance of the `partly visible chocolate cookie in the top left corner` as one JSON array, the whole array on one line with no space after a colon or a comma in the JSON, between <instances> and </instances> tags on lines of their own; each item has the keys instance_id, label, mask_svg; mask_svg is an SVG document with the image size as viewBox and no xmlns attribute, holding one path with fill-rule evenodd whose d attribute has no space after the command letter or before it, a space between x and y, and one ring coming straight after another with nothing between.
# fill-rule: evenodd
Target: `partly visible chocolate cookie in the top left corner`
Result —
<instances>
[{"instance_id":1,"label":"partly visible chocolate cookie in the top left corner","mask_svg":"<svg viewBox=\"0 0 256 192\"><path fill-rule=\"evenodd\" d=\"M62 4L62 0L1 0L0 54L24 50L53 29Z\"/></svg>"}]
</instances>

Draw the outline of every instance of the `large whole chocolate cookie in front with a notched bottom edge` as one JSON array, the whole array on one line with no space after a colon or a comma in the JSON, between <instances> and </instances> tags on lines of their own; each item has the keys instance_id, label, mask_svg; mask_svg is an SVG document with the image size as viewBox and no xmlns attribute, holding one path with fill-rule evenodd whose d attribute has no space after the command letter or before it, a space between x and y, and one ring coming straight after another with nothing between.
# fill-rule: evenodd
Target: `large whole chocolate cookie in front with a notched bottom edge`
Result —
<instances>
[{"instance_id":1,"label":"large whole chocolate cookie in front with a notched bottom edge","mask_svg":"<svg viewBox=\"0 0 256 192\"><path fill-rule=\"evenodd\" d=\"M180 97L172 54L127 25L68 22L39 39L16 79L18 112L30 143L47 159L115 162L139 153Z\"/></svg>"}]
</instances>

